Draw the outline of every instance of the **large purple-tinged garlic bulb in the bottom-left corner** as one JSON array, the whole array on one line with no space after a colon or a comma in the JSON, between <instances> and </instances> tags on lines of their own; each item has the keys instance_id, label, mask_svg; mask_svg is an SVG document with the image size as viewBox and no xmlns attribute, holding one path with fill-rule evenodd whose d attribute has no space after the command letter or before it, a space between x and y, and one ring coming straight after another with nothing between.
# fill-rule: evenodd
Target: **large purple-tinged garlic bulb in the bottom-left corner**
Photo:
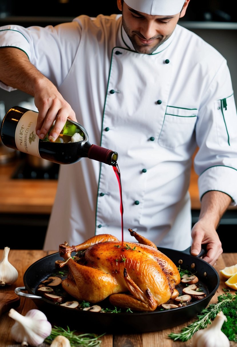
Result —
<instances>
[{"instance_id":1,"label":"large purple-tinged garlic bulb in the bottom-left corner","mask_svg":"<svg viewBox=\"0 0 237 347\"><path fill-rule=\"evenodd\" d=\"M11 328L11 336L16 342L21 342L21 346L38 346L51 334L51 324L39 310L30 310L23 316L11 308L8 315L16 321Z\"/></svg>"}]
</instances>

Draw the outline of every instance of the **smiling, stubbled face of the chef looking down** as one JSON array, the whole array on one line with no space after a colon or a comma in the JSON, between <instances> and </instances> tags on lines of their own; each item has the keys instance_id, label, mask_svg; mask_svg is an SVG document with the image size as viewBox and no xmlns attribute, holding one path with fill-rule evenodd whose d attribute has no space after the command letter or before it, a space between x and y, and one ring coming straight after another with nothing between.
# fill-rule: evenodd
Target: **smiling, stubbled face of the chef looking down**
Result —
<instances>
[{"instance_id":1,"label":"smiling, stubbled face of the chef looking down","mask_svg":"<svg viewBox=\"0 0 237 347\"><path fill-rule=\"evenodd\" d=\"M123 28L138 53L151 54L165 42L174 31L179 18L186 12L189 0L186 0L182 11L173 16L153 16L138 12L121 0L117 0L118 9L122 11Z\"/></svg>"}]
</instances>

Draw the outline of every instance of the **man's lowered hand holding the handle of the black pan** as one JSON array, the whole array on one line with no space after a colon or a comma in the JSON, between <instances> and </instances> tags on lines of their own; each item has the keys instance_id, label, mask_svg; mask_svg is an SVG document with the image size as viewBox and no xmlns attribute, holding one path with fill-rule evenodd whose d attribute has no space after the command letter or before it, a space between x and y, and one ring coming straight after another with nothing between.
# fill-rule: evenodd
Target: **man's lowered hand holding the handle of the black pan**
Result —
<instances>
[{"instance_id":1,"label":"man's lowered hand holding the handle of the black pan","mask_svg":"<svg viewBox=\"0 0 237 347\"><path fill-rule=\"evenodd\" d=\"M210 223L199 220L192 229L193 243L191 245L191 254L198 255L201 252L201 245L206 245L206 254L202 257L207 263L215 265L223 249L219 236L214 227L210 227Z\"/></svg>"}]
</instances>

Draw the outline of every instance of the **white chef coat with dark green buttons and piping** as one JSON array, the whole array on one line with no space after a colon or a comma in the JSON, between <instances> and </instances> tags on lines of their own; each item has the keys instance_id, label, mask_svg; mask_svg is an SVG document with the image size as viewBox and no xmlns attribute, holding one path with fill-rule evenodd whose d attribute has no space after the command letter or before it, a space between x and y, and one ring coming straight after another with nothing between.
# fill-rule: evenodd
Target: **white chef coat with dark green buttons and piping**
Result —
<instances>
[{"instance_id":1,"label":"white chef coat with dark green buttons and piping","mask_svg":"<svg viewBox=\"0 0 237 347\"><path fill-rule=\"evenodd\" d=\"M90 143L118 152L125 241L134 241L132 228L157 246L191 245L188 187L197 146L200 198L217 190L236 205L237 114L229 69L196 34L177 25L153 54L140 54L121 15L99 15L56 27L5 26L0 37L1 46L25 51L58 87ZM113 168L88 158L62 165L44 249L105 233L121 240Z\"/></svg>"}]
</instances>

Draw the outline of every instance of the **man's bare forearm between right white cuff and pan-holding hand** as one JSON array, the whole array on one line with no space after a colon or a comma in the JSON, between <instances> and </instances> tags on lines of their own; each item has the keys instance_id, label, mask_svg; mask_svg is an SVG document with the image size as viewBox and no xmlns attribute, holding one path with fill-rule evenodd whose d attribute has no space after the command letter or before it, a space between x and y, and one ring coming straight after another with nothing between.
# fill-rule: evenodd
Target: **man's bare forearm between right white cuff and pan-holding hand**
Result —
<instances>
[{"instance_id":1,"label":"man's bare forearm between right white cuff and pan-holding hand","mask_svg":"<svg viewBox=\"0 0 237 347\"><path fill-rule=\"evenodd\" d=\"M225 193L219 191L205 193L201 200L199 220L206 221L216 229L230 203L231 197Z\"/></svg>"}]
</instances>

